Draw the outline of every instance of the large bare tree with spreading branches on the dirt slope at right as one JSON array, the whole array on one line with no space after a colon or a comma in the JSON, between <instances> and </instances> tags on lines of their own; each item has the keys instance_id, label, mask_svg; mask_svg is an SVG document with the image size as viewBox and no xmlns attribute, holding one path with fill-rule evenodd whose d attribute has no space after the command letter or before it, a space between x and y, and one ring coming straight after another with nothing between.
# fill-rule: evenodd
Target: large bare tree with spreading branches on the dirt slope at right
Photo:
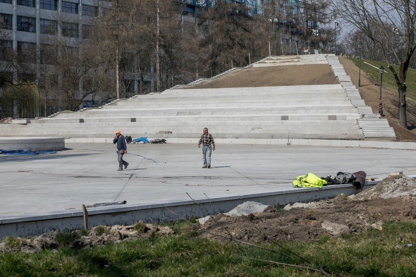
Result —
<instances>
[{"instance_id":1,"label":"large bare tree with spreading branches on the dirt slope at right","mask_svg":"<svg viewBox=\"0 0 416 277\"><path fill-rule=\"evenodd\" d=\"M371 39L382 52L397 84L399 123L407 128L406 76L416 49L416 2L334 0L333 11ZM399 64L398 72L392 66L393 57Z\"/></svg>"}]
</instances>

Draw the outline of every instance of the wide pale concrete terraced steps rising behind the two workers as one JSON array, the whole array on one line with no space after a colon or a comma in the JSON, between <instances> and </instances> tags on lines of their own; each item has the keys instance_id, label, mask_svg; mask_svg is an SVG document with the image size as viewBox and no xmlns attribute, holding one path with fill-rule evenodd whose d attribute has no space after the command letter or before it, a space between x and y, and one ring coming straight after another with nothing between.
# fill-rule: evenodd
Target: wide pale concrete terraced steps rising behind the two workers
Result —
<instances>
[{"instance_id":1,"label":"wide pale concrete terraced steps rising behind the two workers","mask_svg":"<svg viewBox=\"0 0 416 277\"><path fill-rule=\"evenodd\" d=\"M166 90L0 128L66 139L108 139L116 129L133 138L195 139L204 127L216 139L364 139L359 118L340 85L319 85Z\"/></svg>"}]
</instances>

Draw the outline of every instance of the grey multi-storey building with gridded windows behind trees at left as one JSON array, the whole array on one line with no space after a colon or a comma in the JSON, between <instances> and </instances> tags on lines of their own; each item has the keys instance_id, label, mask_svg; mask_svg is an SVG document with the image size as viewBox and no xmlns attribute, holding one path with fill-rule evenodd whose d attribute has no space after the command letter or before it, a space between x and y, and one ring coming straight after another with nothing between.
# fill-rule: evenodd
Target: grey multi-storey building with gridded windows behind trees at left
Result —
<instances>
[{"instance_id":1,"label":"grey multi-storey building with gridded windows behind trees at left","mask_svg":"<svg viewBox=\"0 0 416 277\"><path fill-rule=\"evenodd\" d=\"M77 50L77 43L88 39L93 33L91 21L103 9L98 3L97 0L0 0L0 53L14 50L18 58L31 63L31 72L24 79L32 82L39 79L40 86L44 85L40 66L52 68L50 72L53 72L53 67L48 65L53 64L48 60L53 58L45 53L62 37L68 39L69 48ZM25 55L30 52L36 53L36 56L26 58ZM58 73L50 77L60 78ZM14 78L21 79L21 76ZM80 97L85 89L83 85L81 80ZM151 91L153 81L145 80L145 85ZM134 76L131 76L126 89L129 95L138 91L139 84ZM88 97L85 100L88 102Z\"/></svg>"}]
</instances>

